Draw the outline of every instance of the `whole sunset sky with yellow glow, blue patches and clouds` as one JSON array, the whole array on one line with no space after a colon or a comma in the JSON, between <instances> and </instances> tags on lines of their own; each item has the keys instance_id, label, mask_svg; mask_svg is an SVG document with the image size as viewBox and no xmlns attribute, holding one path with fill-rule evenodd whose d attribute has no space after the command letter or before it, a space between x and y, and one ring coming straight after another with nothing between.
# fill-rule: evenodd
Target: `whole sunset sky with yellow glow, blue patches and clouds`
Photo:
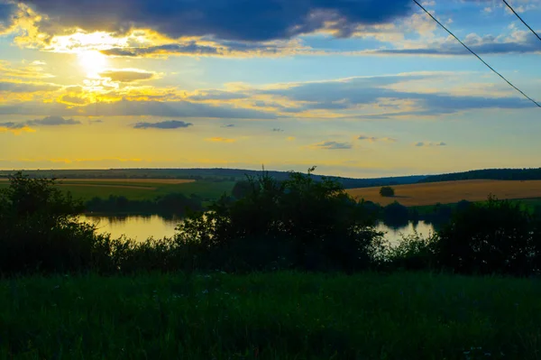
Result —
<instances>
[{"instance_id":1,"label":"whole sunset sky with yellow glow, blue patches and clouds","mask_svg":"<svg viewBox=\"0 0 541 360\"><path fill-rule=\"evenodd\" d=\"M541 0L509 1L541 33ZM541 101L497 0L422 5ZM0 0L0 169L539 167L541 108L411 0Z\"/></svg>"}]
</instances>

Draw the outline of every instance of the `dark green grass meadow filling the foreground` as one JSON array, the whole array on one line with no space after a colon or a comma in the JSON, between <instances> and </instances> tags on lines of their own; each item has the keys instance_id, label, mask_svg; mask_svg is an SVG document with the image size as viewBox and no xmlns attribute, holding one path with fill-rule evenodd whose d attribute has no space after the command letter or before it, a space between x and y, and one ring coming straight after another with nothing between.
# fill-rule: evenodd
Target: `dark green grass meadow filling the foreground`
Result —
<instances>
[{"instance_id":1,"label":"dark green grass meadow filling the foreground","mask_svg":"<svg viewBox=\"0 0 541 360\"><path fill-rule=\"evenodd\" d=\"M427 273L0 282L1 359L538 359L541 283Z\"/></svg>"}]
</instances>

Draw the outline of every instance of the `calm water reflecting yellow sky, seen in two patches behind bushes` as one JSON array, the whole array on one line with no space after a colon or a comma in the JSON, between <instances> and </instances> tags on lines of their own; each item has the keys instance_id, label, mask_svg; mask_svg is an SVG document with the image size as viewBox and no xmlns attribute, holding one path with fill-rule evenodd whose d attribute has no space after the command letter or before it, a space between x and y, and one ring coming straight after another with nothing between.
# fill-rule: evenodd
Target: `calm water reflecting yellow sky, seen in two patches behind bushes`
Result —
<instances>
[{"instance_id":1,"label":"calm water reflecting yellow sky, seen in two patches behind bushes","mask_svg":"<svg viewBox=\"0 0 541 360\"><path fill-rule=\"evenodd\" d=\"M127 216L127 217L103 217L103 216L81 216L82 221L97 226L99 232L109 233L113 237L126 235L129 238L138 241L144 241L153 236L156 239L170 237L175 234L175 227L182 221L181 218L164 218L158 215L147 217ZM402 235L417 233L420 235L429 235L434 232L434 226L419 221L417 224L409 222L407 226L391 227L382 222L377 226L378 231L385 232L386 239L392 244L397 244Z\"/></svg>"}]
</instances>

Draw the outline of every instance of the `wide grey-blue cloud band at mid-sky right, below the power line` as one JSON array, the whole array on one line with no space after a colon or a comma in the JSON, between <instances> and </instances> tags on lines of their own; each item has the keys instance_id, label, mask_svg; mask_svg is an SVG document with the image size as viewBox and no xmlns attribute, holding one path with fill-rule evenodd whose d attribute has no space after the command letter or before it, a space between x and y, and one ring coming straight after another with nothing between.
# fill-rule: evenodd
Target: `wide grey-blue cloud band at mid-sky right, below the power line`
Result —
<instances>
[{"instance_id":1,"label":"wide grey-blue cloud band at mid-sky right, below the power line","mask_svg":"<svg viewBox=\"0 0 541 360\"><path fill-rule=\"evenodd\" d=\"M335 117L388 118L392 116L428 116L455 114L460 111L485 108L529 108L531 103L521 97L494 97L453 95L442 92L421 92L408 87L408 82L429 79L433 82L449 80L449 74L413 73L399 76L366 78L342 78L337 80L290 83L272 88L253 90L258 95L287 98L296 103L298 114L313 114L314 110L327 110ZM456 78L456 75L453 77ZM471 82L471 80L470 80ZM396 89L398 85L408 91ZM395 87L395 88L393 88ZM422 90L422 89L421 89ZM383 106L383 101L397 103L398 111L383 111L380 114L360 115L359 109L395 108ZM382 104L383 103L383 104ZM351 111L351 112L350 112ZM313 115L313 117L317 117Z\"/></svg>"}]
</instances>

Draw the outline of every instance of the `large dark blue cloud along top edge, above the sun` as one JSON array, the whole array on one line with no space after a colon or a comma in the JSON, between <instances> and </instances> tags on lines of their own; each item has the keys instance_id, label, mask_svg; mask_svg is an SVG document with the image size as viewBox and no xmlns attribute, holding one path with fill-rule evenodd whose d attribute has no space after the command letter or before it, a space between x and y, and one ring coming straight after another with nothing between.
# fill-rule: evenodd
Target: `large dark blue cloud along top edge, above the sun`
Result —
<instances>
[{"instance_id":1,"label":"large dark blue cloud along top edge, above the sun","mask_svg":"<svg viewBox=\"0 0 541 360\"><path fill-rule=\"evenodd\" d=\"M341 36L356 25L389 23L411 13L409 0L21 0L49 20L41 29L127 32L152 29L171 38L269 41L315 32L335 23Z\"/></svg>"}]
</instances>

